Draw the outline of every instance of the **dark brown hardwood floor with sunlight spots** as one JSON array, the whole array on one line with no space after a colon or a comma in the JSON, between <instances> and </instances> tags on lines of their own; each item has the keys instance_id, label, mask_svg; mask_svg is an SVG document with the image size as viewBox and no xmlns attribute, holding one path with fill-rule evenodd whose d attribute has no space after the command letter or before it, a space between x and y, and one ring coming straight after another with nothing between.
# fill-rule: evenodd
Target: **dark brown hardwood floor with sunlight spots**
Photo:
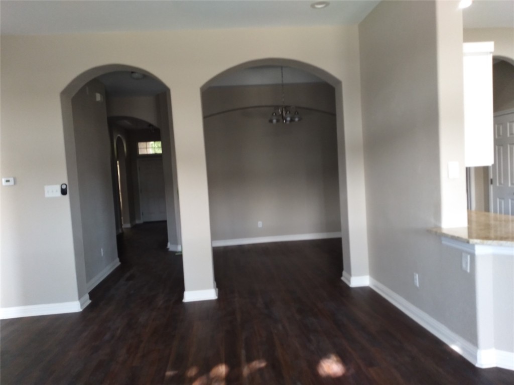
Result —
<instances>
[{"instance_id":1,"label":"dark brown hardwood floor with sunlight spots","mask_svg":"<svg viewBox=\"0 0 514 385\"><path fill-rule=\"evenodd\" d=\"M3 320L2 384L512 384L370 288L340 240L214 249L219 298L183 303L166 224L127 230L122 266L82 313Z\"/></svg>"}]
</instances>

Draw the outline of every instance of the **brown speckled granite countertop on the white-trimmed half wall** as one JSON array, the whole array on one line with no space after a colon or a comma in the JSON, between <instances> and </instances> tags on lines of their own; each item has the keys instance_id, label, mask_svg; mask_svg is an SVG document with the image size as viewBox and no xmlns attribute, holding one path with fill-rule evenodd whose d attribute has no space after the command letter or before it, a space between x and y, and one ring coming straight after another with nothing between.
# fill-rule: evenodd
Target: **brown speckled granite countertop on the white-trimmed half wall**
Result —
<instances>
[{"instance_id":1,"label":"brown speckled granite countertop on the white-trimmed half wall","mask_svg":"<svg viewBox=\"0 0 514 385\"><path fill-rule=\"evenodd\" d=\"M468 210L468 227L433 227L429 231L458 241L514 247L514 216Z\"/></svg>"}]
</instances>

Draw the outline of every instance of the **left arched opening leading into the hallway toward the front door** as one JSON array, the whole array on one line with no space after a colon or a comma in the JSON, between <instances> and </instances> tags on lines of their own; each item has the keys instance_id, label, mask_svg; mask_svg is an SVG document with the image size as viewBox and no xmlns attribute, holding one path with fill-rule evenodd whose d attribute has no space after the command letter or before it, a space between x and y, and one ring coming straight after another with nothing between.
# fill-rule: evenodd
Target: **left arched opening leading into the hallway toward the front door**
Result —
<instances>
[{"instance_id":1,"label":"left arched opening leading into the hallway toward the front door","mask_svg":"<svg viewBox=\"0 0 514 385\"><path fill-rule=\"evenodd\" d=\"M107 103L107 86L101 77L111 73L126 73L129 78L137 73L160 82L159 93L145 98L151 107L142 109L143 118L146 118L144 112L150 111L146 119L151 123L141 127L134 124L140 121L141 115L136 108L138 98ZM117 119L123 110L120 105L128 107L122 120ZM140 199L136 194L140 190L137 180L140 158L159 158L153 160L160 163L166 180L162 181L165 190L161 219L168 223L169 249L180 248L176 166L170 140L173 136L170 91L140 68L106 65L91 68L72 80L61 92L61 107L77 284L79 298L83 298L81 302L85 306L88 292L120 263L117 233L123 227L144 221L137 216L134 204L136 198L136 202ZM146 107L144 103L143 107ZM127 127L120 121L126 122ZM158 150L138 149L141 138L150 138L148 143L152 144L154 140L158 142Z\"/></svg>"}]
</instances>

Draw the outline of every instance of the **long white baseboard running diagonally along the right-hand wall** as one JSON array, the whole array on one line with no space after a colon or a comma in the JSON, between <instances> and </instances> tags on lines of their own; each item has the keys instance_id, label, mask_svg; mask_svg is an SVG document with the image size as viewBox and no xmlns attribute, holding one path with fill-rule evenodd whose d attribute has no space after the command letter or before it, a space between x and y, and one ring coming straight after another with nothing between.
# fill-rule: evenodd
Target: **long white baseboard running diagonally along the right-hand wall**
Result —
<instances>
[{"instance_id":1,"label":"long white baseboard running diagonally along the right-hand wall","mask_svg":"<svg viewBox=\"0 0 514 385\"><path fill-rule=\"evenodd\" d=\"M469 362L478 366L478 349L461 336L455 334L445 325L430 317L427 313L421 311L412 303L408 302L398 294L382 285L380 282L370 278L371 288L395 305L403 313L407 314L414 321L427 329L434 336L445 342L458 354L466 358Z\"/></svg>"}]
</instances>

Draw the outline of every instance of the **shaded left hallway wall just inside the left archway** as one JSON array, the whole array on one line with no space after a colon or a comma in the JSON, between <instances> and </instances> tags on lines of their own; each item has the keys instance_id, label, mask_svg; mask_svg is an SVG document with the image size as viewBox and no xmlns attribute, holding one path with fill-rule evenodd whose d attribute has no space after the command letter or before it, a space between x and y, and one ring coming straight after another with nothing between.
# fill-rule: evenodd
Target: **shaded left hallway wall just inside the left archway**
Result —
<instances>
[{"instance_id":1,"label":"shaded left hallway wall just inside the left archway","mask_svg":"<svg viewBox=\"0 0 514 385\"><path fill-rule=\"evenodd\" d=\"M96 93L103 101L95 100ZM86 281L118 259L111 173L111 141L107 127L105 89L91 81L71 100L75 126L78 188ZM70 191L70 194L73 192ZM103 249L103 252L102 252ZM102 255L103 254L103 255Z\"/></svg>"}]
</instances>

